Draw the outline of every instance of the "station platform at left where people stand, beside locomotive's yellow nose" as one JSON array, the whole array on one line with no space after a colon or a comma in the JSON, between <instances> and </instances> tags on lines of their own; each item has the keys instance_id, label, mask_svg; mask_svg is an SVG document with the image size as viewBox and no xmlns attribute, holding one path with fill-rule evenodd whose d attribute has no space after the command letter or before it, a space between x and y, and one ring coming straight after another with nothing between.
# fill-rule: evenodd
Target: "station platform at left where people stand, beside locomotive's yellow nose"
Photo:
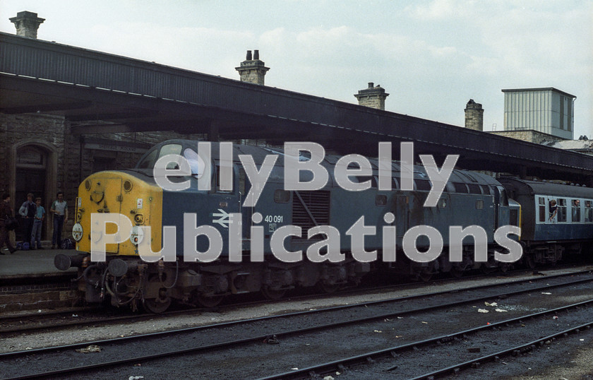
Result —
<instances>
[{"instance_id":1,"label":"station platform at left where people stand, beside locomotive's yellow nose","mask_svg":"<svg viewBox=\"0 0 593 380\"><path fill-rule=\"evenodd\" d=\"M21 278L51 278L63 277L64 275L75 276L78 268L70 268L68 271L60 271L54 266L56 254L76 256L79 252L76 249L35 249L29 251L15 251L8 254L6 249L0 255L0 283L8 280Z\"/></svg>"}]
</instances>

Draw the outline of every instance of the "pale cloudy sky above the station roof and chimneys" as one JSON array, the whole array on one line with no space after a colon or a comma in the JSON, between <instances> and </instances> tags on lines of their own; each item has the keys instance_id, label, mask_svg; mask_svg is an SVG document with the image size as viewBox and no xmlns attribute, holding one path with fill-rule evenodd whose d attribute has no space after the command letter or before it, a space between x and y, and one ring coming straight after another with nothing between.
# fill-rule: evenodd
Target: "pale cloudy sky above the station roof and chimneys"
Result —
<instances>
[{"instance_id":1,"label":"pale cloudy sky above the station roof and chimneys","mask_svg":"<svg viewBox=\"0 0 593 380\"><path fill-rule=\"evenodd\" d=\"M593 138L593 0L1 0L45 18L37 37L239 79L258 49L265 85L463 126L469 99L502 131L508 88L575 95L575 138Z\"/></svg>"}]
</instances>

